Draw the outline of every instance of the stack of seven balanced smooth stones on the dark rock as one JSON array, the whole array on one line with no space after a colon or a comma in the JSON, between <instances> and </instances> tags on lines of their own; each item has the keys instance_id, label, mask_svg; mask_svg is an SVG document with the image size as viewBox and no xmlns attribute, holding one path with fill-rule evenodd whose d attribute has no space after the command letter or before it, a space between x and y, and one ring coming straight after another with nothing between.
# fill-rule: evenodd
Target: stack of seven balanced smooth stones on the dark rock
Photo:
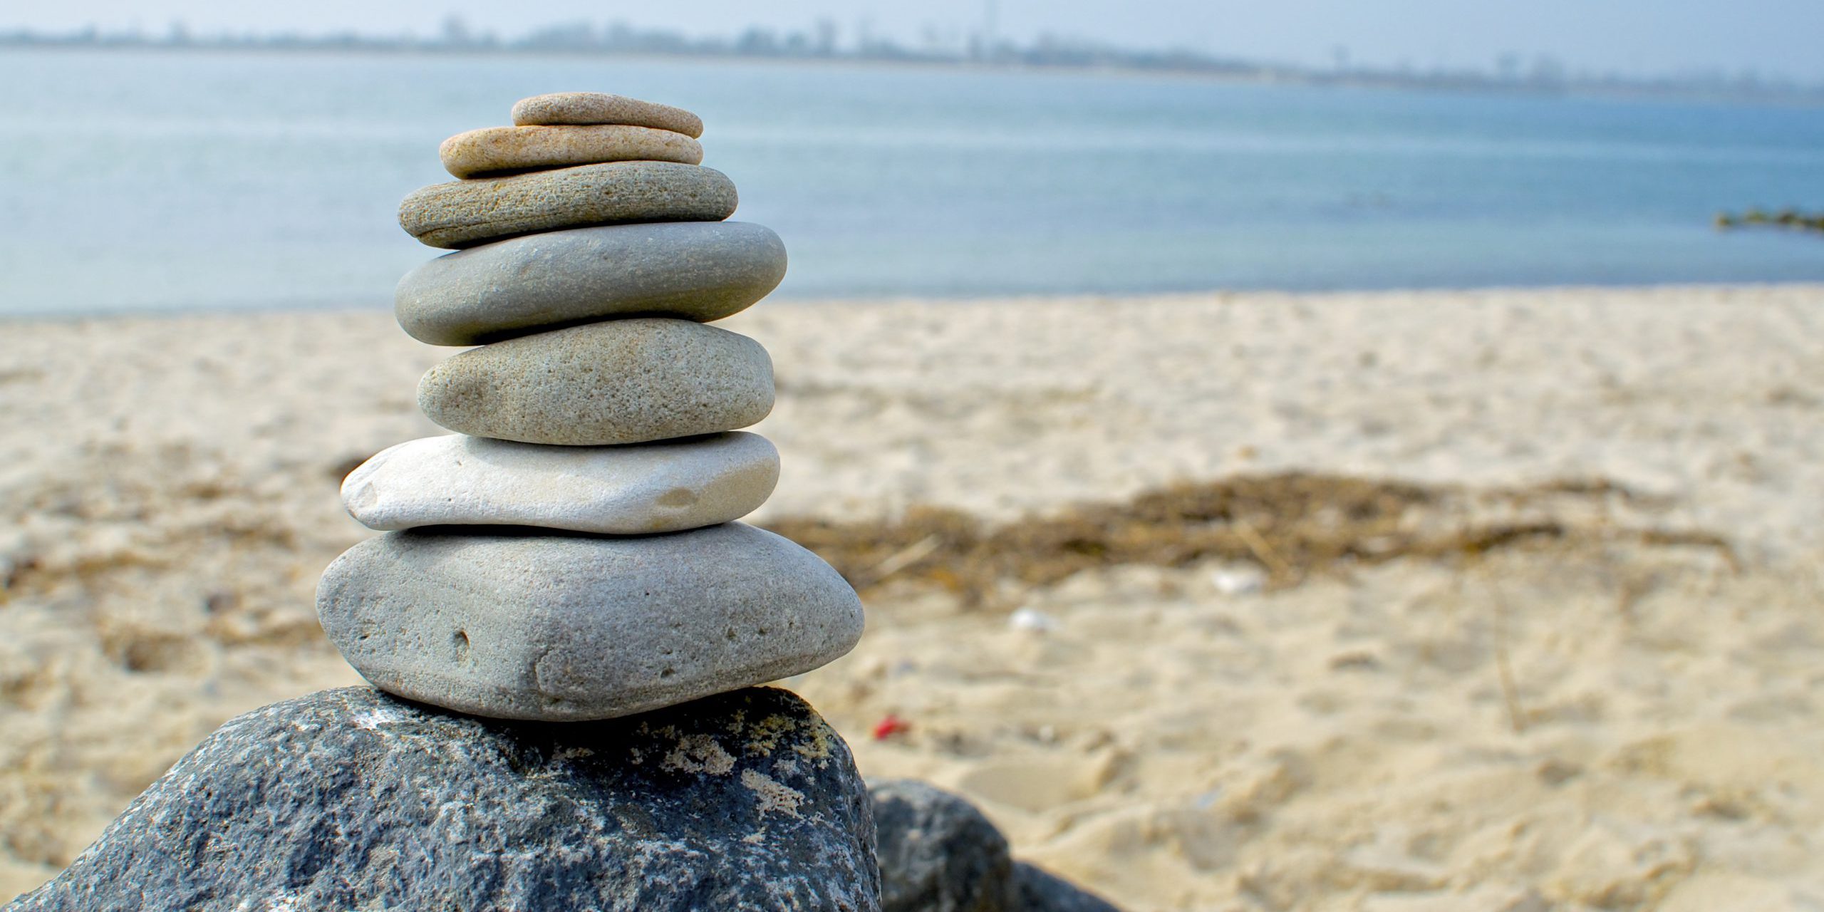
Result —
<instances>
[{"instance_id":1,"label":"stack of seven balanced smooth stones on the dark rock","mask_svg":"<svg viewBox=\"0 0 1824 912\"><path fill-rule=\"evenodd\" d=\"M525 98L451 137L458 181L399 224L458 248L398 288L399 325L480 345L432 367L399 443L343 483L381 529L317 587L374 686L472 715L611 719L808 671L861 637L815 554L742 525L779 478L753 425L772 359L708 326L784 277L779 237L728 223L702 120L617 95Z\"/></svg>"}]
</instances>

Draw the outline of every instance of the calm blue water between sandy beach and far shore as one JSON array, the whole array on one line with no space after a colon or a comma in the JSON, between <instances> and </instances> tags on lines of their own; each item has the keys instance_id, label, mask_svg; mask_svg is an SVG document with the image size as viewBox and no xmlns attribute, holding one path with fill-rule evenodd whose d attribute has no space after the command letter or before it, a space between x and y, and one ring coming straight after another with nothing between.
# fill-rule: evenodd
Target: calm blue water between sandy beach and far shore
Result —
<instances>
[{"instance_id":1,"label":"calm blue water between sandy beach and far shore","mask_svg":"<svg viewBox=\"0 0 1824 912\"><path fill-rule=\"evenodd\" d=\"M0 49L0 312L381 306L438 142L691 108L781 295L1824 281L1824 111L804 64Z\"/></svg>"}]
</instances>

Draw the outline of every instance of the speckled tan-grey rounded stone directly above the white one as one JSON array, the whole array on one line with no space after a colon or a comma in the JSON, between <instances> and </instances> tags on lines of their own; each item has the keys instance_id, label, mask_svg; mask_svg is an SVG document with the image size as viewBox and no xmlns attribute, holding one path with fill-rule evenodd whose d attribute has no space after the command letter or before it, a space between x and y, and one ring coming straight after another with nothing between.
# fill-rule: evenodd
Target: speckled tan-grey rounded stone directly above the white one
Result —
<instances>
[{"instance_id":1,"label":"speckled tan-grey rounded stone directly above the white one","mask_svg":"<svg viewBox=\"0 0 1824 912\"><path fill-rule=\"evenodd\" d=\"M615 319L452 356L418 381L418 407L482 438L644 443L766 418L773 363L761 343L702 323Z\"/></svg>"}]
</instances>

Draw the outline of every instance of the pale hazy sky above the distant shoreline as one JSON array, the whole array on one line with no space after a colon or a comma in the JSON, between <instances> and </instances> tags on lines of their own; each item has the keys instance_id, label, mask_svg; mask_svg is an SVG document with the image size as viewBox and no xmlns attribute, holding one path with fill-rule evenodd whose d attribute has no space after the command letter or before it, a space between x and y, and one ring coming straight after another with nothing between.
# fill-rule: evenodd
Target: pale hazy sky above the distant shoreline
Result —
<instances>
[{"instance_id":1,"label":"pale hazy sky above the distant shoreline","mask_svg":"<svg viewBox=\"0 0 1824 912\"><path fill-rule=\"evenodd\" d=\"M801 29L830 16L852 40L876 35L917 42L979 31L989 0L58 0L0 5L0 27L69 29L171 20L192 31L414 31L429 35L449 13L503 36L533 26L626 20L695 35L750 24ZM1127 46L1195 47L1229 57L1326 64L1335 47L1368 64L1488 66L1496 55L1554 55L1572 67L1665 73L1682 69L1784 73L1824 80L1824 0L998 0L1000 35L1102 38Z\"/></svg>"}]
</instances>

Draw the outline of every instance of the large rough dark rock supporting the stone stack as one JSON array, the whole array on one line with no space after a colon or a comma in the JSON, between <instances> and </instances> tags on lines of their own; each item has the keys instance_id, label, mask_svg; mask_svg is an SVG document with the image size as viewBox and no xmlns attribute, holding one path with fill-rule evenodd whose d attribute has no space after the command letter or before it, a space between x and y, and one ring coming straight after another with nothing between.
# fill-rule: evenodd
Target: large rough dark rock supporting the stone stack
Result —
<instances>
[{"instance_id":1,"label":"large rough dark rock supporting the stone stack","mask_svg":"<svg viewBox=\"0 0 1824 912\"><path fill-rule=\"evenodd\" d=\"M217 728L7 912L879 908L843 739L755 688L500 722L343 688Z\"/></svg>"}]
</instances>

